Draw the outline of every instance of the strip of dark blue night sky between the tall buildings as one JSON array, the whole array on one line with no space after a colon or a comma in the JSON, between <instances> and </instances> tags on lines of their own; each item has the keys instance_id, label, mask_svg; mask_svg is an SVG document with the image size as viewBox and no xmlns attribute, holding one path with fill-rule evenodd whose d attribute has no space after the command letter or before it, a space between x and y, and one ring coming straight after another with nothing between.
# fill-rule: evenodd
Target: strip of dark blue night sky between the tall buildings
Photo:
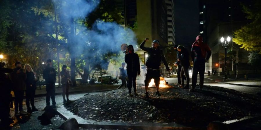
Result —
<instances>
[{"instance_id":1,"label":"strip of dark blue night sky between the tall buildings","mask_svg":"<svg viewBox=\"0 0 261 130\"><path fill-rule=\"evenodd\" d=\"M199 34L199 1L174 0L176 44L190 49Z\"/></svg>"}]
</instances>

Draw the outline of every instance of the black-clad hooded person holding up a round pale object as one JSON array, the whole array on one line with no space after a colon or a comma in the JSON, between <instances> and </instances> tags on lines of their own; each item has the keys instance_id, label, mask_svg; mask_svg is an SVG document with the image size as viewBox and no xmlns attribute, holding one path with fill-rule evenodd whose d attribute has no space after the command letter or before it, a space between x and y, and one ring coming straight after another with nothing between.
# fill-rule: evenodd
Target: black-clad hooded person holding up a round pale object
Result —
<instances>
[{"instance_id":1,"label":"black-clad hooded person holding up a round pale object","mask_svg":"<svg viewBox=\"0 0 261 130\"><path fill-rule=\"evenodd\" d=\"M140 75L140 64L139 55L134 53L132 45L128 46L128 53L125 55L125 62L127 63L127 75L128 75L128 90L129 95L132 97L131 88L133 86L133 91L135 96L138 96L136 92L136 77Z\"/></svg>"}]
</instances>

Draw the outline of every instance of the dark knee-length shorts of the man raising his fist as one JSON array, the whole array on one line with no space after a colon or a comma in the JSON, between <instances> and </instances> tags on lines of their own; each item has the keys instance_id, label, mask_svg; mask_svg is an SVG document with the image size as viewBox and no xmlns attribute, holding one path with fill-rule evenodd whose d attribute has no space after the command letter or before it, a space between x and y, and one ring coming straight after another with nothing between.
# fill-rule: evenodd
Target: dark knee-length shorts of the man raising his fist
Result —
<instances>
[{"instance_id":1,"label":"dark knee-length shorts of the man raising his fist","mask_svg":"<svg viewBox=\"0 0 261 130\"><path fill-rule=\"evenodd\" d=\"M146 78L145 78L145 86L148 86L151 82L151 79L154 79L154 83L156 86L160 85L160 70L149 70L147 69Z\"/></svg>"}]
</instances>

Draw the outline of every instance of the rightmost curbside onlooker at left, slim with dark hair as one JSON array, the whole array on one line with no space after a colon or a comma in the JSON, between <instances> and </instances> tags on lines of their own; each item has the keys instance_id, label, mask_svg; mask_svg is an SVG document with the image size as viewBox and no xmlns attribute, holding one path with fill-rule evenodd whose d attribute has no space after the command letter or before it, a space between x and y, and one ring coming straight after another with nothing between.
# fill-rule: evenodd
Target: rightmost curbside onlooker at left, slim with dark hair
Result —
<instances>
[{"instance_id":1,"label":"rightmost curbside onlooker at left, slim with dark hair","mask_svg":"<svg viewBox=\"0 0 261 130\"><path fill-rule=\"evenodd\" d=\"M66 69L67 69L67 66L63 65L62 71L60 72L61 84L62 84L62 89L63 89L62 95L63 95L64 103L70 102L70 100L69 100L70 73ZM66 94L67 101L65 100L65 94Z\"/></svg>"}]
</instances>

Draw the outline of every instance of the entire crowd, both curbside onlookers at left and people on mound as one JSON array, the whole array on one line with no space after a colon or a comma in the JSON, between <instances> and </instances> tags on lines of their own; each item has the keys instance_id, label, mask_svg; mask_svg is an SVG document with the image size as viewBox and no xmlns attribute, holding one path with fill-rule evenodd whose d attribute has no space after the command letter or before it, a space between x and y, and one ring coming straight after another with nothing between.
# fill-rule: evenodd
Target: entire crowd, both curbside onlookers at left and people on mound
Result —
<instances>
[{"instance_id":1,"label":"entire crowd, both curbside onlookers at left and people on mound","mask_svg":"<svg viewBox=\"0 0 261 130\"><path fill-rule=\"evenodd\" d=\"M152 47L144 47L145 42L148 41L148 38L146 38L141 44L140 49L146 51L148 53L148 59L146 60L146 78L144 80L145 84L145 97L149 98L148 94L148 85L151 81L151 79L154 79L155 86L156 86L156 95L161 96L159 92L159 85L160 85L160 65L163 62L163 64L166 67L166 70L169 71L170 68L168 67L166 58L164 56L163 51L160 49L160 41L153 40ZM203 42L202 36L197 36L196 41L192 44L191 47L191 58L193 62L193 74L192 74L192 85L189 86L189 51L184 48L182 45L175 45L174 49L177 51L177 61L175 63L175 66L177 67L177 79L178 82L176 83L181 88L189 89L190 92L193 92L195 90L196 82L197 82L197 74L200 75L200 82L199 82L199 88L202 90L203 83L204 83L204 72L205 72L205 63L207 60L209 60L209 57L211 56L211 50L209 46ZM139 63L139 56L137 53L134 53L134 49L132 45L129 45L126 50L125 55L125 62L122 63L122 66L119 68L120 70L120 76L119 79L122 80L121 86L119 88L122 88L123 86L126 88L128 87L129 96L133 96L132 94L132 88L133 93L135 96L138 96L138 93L136 92L136 77L137 75L140 75L140 63ZM43 70L43 78L46 81L46 106L50 106L50 98L52 100L52 107L55 108L56 102L55 102L55 82L56 82L56 70L52 67L52 60L48 59L46 61L46 68ZM125 70L124 67L127 64L127 69ZM1 64L0 64L1 65ZM2 68L3 66L1 66ZM70 74L66 70L67 66L62 66L61 74L61 85L62 85L62 96L64 99L64 103L69 102L69 84L70 84ZM210 71L208 71L210 74ZM6 73L6 72L5 72ZM7 83L12 85L12 87L8 86L9 89L4 89L4 94L8 94L8 92L12 91L14 92L14 110L15 110L15 116L19 115L25 115L28 113L32 113L35 111L38 111L38 109L35 107L34 103L34 97L35 97L35 90L36 90L36 84L37 84L37 78L36 73L33 71L32 67L29 64L25 64L22 67L21 62L15 62L15 68L13 69L12 73L10 74L10 78L8 75L6 75L4 72L1 71L1 83L2 85L7 85ZM215 75L215 70L212 69L212 74ZM184 82L186 80L186 83ZM3 81L5 81L3 83ZM2 87L3 88L3 87ZM1 89L2 89L1 88ZM10 97L10 92L8 94L8 97ZM23 96L24 93L26 94L26 106L27 106L27 112L23 110ZM2 94L2 96L4 95ZM66 95L66 99L65 99ZM12 96L12 95L11 95ZM11 101L11 103L10 103ZM12 100L8 100L8 104L12 105ZM31 104L31 106L30 106ZM1 121L6 120L9 116L9 106L8 109L5 109L6 107L3 107L5 114L1 114L0 118ZM10 121L12 122L12 121Z\"/></svg>"}]
</instances>

